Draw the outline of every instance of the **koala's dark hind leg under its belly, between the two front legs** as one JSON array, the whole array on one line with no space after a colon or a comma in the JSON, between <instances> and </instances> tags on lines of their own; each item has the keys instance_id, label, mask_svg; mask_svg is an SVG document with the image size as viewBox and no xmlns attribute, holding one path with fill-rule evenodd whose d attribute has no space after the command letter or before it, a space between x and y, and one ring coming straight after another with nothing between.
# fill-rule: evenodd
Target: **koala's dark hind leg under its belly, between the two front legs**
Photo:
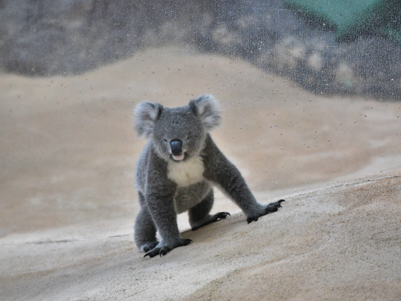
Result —
<instances>
[{"instance_id":1,"label":"koala's dark hind leg under its belly, between the two front legs","mask_svg":"<svg viewBox=\"0 0 401 301\"><path fill-rule=\"evenodd\" d=\"M218 220L224 219L230 215L228 212L219 212L214 215L209 214L213 207L213 201L213 189L211 189L205 199L189 209L189 224L192 227L192 231L217 222Z\"/></svg>"}]
</instances>

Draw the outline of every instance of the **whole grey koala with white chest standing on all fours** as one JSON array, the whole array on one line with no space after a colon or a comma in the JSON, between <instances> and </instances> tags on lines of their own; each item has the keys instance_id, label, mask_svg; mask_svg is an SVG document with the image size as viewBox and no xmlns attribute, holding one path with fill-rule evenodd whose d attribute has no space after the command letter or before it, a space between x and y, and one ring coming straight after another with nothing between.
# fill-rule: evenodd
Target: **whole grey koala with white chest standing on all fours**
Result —
<instances>
[{"instance_id":1,"label":"whole grey koala with white chest standing on all fours","mask_svg":"<svg viewBox=\"0 0 401 301\"><path fill-rule=\"evenodd\" d=\"M139 250L146 252L144 257L165 255L192 242L178 231L179 213L188 211L192 231L230 215L209 214L214 186L242 209L248 223L277 211L285 202L257 202L239 170L209 134L220 121L219 104L212 95L201 95L176 108L150 102L136 107L136 130L139 136L150 138L136 169L141 209L135 220L134 239Z\"/></svg>"}]
</instances>

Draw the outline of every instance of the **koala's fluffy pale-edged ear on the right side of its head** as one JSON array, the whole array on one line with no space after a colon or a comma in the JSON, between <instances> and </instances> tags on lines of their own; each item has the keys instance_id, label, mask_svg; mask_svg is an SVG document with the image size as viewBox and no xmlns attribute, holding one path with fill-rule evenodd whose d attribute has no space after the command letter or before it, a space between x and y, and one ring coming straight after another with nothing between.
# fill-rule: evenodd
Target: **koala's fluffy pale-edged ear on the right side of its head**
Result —
<instances>
[{"instance_id":1,"label":"koala's fluffy pale-edged ear on the right side of its head","mask_svg":"<svg viewBox=\"0 0 401 301\"><path fill-rule=\"evenodd\" d=\"M196 99L189 101L189 107L193 113L202 121L207 130L211 130L220 125L220 106L218 101L209 94L200 95Z\"/></svg>"}]
</instances>

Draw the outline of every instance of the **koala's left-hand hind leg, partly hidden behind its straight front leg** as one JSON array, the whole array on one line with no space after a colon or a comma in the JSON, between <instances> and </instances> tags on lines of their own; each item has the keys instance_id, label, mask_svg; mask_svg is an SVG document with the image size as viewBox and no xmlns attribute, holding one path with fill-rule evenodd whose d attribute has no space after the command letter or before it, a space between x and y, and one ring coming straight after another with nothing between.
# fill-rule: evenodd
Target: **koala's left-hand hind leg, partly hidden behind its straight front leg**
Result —
<instances>
[{"instance_id":1,"label":"koala's left-hand hind leg, partly hidden behind its straight front leg","mask_svg":"<svg viewBox=\"0 0 401 301\"><path fill-rule=\"evenodd\" d=\"M139 193L141 210L135 220L135 244L142 251L147 252L157 245L156 226L145 204L144 197Z\"/></svg>"}]
</instances>

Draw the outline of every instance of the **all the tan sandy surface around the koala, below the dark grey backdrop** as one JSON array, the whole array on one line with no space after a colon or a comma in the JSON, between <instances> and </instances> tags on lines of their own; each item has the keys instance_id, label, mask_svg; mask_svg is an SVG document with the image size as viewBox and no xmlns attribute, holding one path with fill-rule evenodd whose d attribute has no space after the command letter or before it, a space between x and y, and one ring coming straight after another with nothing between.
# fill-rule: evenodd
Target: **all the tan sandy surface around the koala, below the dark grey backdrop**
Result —
<instances>
[{"instance_id":1,"label":"all the tan sandy surface around the koala, below the dark grey backdrop","mask_svg":"<svg viewBox=\"0 0 401 301\"><path fill-rule=\"evenodd\" d=\"M401 299L399 102L319 97L174 48L75 77L0 74L0 91L0 299ZM133 107L203 93L221 100L212 135L259 201L287 202L195 232L181 214L193 243L143 259ZM217 193L222 210L239 212Z\"/></svg>"}]
</instances>

